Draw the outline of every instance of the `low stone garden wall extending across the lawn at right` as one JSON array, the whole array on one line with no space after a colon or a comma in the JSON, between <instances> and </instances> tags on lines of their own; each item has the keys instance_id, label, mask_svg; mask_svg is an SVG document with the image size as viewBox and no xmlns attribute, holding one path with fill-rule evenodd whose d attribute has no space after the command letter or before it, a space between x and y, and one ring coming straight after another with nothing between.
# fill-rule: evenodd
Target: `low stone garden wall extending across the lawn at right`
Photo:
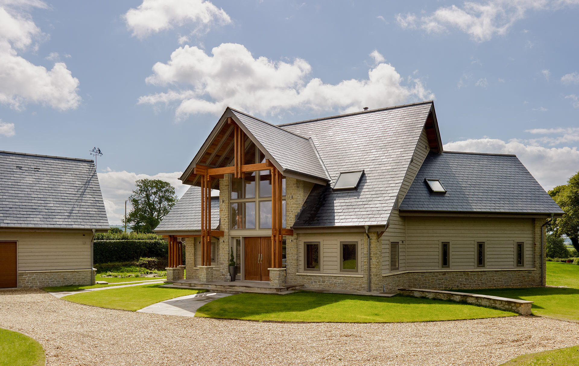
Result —
<instances>
[{"instance_id":1,"label":"low stone garden wall extending across the lawn at right","mask_svg":"<svg viewBox=\"0 0 579 366\"><path fill-rule=\"evenodd\" d=\"M466 294L463 292L426 290L424 288L399 288L398 290L405 296L466 302L472 305L486 306L487 308L507 310L521 315L531 315L531 305L533 303L533 301L501 298L489 295Z\"/></svg>"}]
</instances>

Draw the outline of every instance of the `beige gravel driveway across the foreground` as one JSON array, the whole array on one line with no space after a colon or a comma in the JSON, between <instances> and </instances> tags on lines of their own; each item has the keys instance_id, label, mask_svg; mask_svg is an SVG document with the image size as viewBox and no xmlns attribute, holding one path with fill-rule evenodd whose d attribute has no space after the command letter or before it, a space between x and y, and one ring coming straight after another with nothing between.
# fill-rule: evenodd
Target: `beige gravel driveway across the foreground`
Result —
<instances>
[{"instance_id":1,"label":"beige gravel driveway across the foreground","mask_svg":"<svg viewBox=\"0 0 579 366\"><path fill-rule=\"evenodd\" d=\"M579 344L579 324L539 317L295 324L94 308L0 291L0 328L39 341L47 365L498 365Z\"/></svg>"}]
</instances>

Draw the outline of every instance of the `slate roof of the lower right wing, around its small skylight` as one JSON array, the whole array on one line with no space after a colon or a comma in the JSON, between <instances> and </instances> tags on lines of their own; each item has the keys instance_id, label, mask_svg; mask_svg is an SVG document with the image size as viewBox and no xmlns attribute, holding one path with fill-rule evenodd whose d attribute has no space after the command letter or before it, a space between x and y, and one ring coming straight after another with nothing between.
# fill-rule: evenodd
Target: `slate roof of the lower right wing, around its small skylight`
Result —
<instances>
[{"instance_id":1,"label":"slate roof of the lower right wing, around its small skylight","mask_svg":"<svg viewBox=\"0 0 579 366\"><path fill-rule=\"evenodd\" d=\"M446 193L430 193L426 178ZM448 151L428 154L400 210L563 213L515 155Z\"/></svg>"}]
</instances>

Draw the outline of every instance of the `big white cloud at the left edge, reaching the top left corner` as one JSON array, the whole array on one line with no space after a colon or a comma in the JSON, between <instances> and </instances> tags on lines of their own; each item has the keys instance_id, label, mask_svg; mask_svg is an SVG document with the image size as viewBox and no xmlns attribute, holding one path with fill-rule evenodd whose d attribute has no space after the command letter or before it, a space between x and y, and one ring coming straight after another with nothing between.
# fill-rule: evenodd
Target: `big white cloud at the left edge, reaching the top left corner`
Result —
<instances>
[{"instance_id":1,"label":"big white cloud at the left edge, reaching the top left corner","mask_svg":"<svg viewBox=\"0 0 579 366\"><path fill-rule=\"evenodd\" d=\"M32 8L46 9L47 5L34 0L0 2L0 103L17 110L28 103L74 109L80 103L79 81L66 64L58 62L47 70L18 56L19 51L38 49L33 42L47 37L32 20Z\"/></svg>"}]
</instances>

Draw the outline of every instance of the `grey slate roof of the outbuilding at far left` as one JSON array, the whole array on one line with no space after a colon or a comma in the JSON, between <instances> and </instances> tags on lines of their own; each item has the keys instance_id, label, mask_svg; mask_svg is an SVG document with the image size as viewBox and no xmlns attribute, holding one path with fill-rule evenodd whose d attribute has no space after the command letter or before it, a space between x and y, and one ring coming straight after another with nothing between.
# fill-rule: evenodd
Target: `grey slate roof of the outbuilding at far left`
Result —
<instances>
[{"instance_id":1,"label":"grey slate roof of the outbuilding at far left","mask_svg":"<svg viewBox=\"0 0 579 366\"><path fill-rule=\"evenodd\" d=\"M0 227L108 229L93 160L0 151Z\"/></svg>"}]
</instances>

